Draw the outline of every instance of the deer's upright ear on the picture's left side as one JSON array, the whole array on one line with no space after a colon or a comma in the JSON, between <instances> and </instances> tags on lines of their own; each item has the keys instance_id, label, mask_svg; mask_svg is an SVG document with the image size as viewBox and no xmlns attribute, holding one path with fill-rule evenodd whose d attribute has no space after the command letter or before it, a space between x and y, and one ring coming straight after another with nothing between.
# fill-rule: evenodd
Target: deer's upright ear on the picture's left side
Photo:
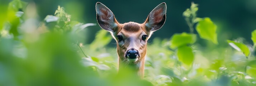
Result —
<instances>
[{"instance_id":1,"label":"deer's upright ear on the picture's left side","mask_svg":"<svg viewBox=\"0 0 256 86\"><path fill-rule=\"evenodd\" d=\"M109 32L115 32L115 27L119 24L114 14L105 5L96 3L96 17L100 27Z\"/></svg>"}]
</instances>

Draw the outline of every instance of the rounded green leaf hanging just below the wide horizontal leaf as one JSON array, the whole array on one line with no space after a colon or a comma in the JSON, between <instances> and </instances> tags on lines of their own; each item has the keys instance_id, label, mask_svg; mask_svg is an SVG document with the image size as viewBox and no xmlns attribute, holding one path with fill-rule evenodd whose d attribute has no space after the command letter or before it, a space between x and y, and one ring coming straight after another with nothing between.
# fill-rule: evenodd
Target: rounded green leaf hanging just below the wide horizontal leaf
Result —
<instances>
[{"instance_id":1,"label":"rounded green leaf hanging just below the wide horizontal leaf","mask_svg":"<svg viewBox=\"0 0 256 86\"><path fill-rule=\"evenodd\" d=\"M191 65L191 63L194 61L193 51L188 46L179 47L177 50L177 56L179 61L186 65Z\"/></svg>"}]
</instances>

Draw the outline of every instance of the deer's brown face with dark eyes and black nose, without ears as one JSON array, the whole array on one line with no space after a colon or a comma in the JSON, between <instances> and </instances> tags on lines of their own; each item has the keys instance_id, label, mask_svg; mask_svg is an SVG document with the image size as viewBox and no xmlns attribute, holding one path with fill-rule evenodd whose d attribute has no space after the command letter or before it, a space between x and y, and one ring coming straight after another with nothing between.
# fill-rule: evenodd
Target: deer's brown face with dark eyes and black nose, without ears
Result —
<instances>
[{"instance_id":1,"label":"deer's brown face with dark eyes and black nose, without ears","mask_svg":"<svg viewBox=\"0 0 256 86\"><path fill-rule=\"evenodd\" d=\"M117 52L121 59L136 62L145 57L147 39L150 35L145 25L134 22L119 24L118 31L113 35L117 41Z\"/></svg>"}]
</instances>

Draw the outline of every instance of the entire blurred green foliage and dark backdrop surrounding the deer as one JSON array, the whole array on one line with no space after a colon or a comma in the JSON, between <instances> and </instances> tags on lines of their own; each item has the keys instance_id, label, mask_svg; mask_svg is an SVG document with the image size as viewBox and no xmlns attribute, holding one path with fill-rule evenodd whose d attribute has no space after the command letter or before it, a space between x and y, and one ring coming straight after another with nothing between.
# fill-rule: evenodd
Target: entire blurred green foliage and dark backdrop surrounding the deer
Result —
<instances>
[{"instance_id":1,"label":"entire blurred green foliage and dark backdrop surrounding the deer","mask_svg":"<svg viewBox=\"0 0 256 86\"><path fill-rule=\"evenodd\" d=\"M96 2L120 23L143 23L167 4L144 80L129 69L116 76L116 42ZM0 86L256 86L255 29L256 0L0 0Z\"/></svg>"}]
</instances>

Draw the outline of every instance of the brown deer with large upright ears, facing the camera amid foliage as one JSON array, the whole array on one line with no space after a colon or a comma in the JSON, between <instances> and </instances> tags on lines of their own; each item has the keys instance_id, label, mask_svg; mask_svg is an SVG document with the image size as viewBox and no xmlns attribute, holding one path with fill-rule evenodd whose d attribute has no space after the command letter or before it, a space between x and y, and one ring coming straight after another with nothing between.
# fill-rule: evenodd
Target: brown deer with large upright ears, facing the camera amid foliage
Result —
<instances>
[{"instance_id":1,"label":"brown deer with large upright ears, facing the camera amid foliage","mask_svg":"<svg viewBox=\"0 0 256 86\"><path fill-rule=\"evenodd\" d=\"M99 26L110 32L117 42L118 73L125 67L132 69L132 75L143 79L147 40L159 30L166 20L166 3L161 3L148 14L144 23L119 23L112 11L104 4L96 3L96 19Z\"/></svg>"}]
</instances>

